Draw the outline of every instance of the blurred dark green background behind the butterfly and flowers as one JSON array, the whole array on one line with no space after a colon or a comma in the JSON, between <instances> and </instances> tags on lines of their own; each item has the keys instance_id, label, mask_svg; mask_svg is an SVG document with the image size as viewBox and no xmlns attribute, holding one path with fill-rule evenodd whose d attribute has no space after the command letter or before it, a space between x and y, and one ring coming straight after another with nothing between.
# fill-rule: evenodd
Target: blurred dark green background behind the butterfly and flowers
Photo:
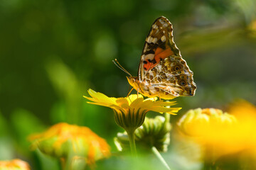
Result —
<instances>
[{"instance_id":1,"label":"blurred dark green background behind the butterfly and flowers","mask_svg":"<svg viewBox=\"0 0 256 170\"><path fill-rule=\"evenodd\" d=\"M42 164L52 160L30 152L26 137L58 122L91 128L115 152L112 137L122 129L112 111L82 95L127 96L127 75L112 60L136 76L159 16L173 24L198 86L196 96L174 99L183 108L174 124L190 108L225 109L236 98L255 104L255 8L254 0L1 0L0 159L48 169Z\"/></svg>"}]
</instances>

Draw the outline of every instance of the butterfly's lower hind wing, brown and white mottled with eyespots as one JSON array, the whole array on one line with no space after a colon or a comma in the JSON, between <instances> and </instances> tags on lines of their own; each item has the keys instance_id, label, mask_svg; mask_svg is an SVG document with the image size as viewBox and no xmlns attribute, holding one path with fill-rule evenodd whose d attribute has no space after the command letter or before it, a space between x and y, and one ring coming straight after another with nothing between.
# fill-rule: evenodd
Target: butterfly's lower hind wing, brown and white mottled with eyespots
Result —
<instances>
[{"instance_id":1,"label":"butterfly's lower hind wing, brown and white mottled with eyespots","mask_svg":"<svg viewBox=\"0 0 256 170\"><path fill-rule=\"evenodd\" d=\"M193 72L180 56L166 57L146 73L147 81L164 96L194 96Z\"/></svg>"}]
</instances>

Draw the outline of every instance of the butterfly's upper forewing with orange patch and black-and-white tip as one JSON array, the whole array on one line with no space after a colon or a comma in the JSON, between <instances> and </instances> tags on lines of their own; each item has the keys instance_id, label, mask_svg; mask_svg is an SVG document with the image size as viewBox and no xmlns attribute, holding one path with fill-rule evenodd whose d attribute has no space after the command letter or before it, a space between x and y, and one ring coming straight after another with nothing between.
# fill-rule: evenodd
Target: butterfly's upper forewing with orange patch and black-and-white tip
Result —
<instances>
[{"instance_id":1,"label":"butterfly's upper forewing with orange patch and black-and-white tip","mask_svg":"<svg viewBox=\"0 0 256 170\"><path fill-rule=\"evenodd\" d=\"M170 21L161 16L154 21L146 38L139 64L139 81L144 79L150 69L170 55L181 56L181 52L174 43Z\"/></svg>"}]
</instances>

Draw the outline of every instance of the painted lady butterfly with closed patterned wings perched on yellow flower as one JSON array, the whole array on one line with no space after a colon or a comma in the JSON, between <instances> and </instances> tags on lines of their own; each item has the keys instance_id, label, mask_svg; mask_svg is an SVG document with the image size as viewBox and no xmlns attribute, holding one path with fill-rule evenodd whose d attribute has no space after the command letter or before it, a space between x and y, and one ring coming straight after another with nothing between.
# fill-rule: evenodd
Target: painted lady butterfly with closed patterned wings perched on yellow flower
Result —
<instances>
[{"instance_id":1,"label":"painted lady butterfly with closed patterned wings perched on yellow flower","mask_svg":"<svg viewBox=\"0 0 256 170\"><path fill-rule=\"evenodd\" d=\"M193 72L181 57L172 25L164 16L154 21L146 37L138 77L127 79L138 93L147 97L171 99L195 95Z\"/></svg>"}]
</instances>

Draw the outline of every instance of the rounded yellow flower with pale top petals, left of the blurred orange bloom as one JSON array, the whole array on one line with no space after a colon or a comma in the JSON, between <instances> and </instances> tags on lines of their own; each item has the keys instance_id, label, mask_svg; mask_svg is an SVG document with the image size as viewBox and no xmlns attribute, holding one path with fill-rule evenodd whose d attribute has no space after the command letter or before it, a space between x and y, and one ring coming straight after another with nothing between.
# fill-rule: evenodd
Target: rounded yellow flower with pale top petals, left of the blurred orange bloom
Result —
<instances>
[{"instance_id":1,"label":"rounded yellow flower with pale top petals, left of the blurred orange bloom","mask_svg":"<svg viewBox=\"0 0 256 170\"><path fill-rule=\"evenodd\" d=\"M237 136L238 120L234 115L223 113L219 109L190 110L178 121L178 127L183 134L193 137L193 140L206 149L214 148L218 156L244 148L240 145L242 139Z\"/></svg>"}]
</instances>

